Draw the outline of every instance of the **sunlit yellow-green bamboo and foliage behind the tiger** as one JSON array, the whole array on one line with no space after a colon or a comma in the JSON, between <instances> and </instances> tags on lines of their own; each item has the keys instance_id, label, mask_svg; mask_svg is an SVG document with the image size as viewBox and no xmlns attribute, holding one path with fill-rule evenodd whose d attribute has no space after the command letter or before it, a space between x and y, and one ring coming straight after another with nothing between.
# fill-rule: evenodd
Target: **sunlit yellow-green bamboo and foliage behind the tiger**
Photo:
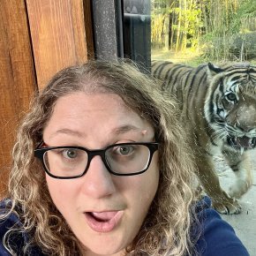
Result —
<instances>
[{"instance_id":1,"label":"sunlit yellow-green bamboo and foliage behind the tiger","mask_svg":"<svg viewBox=\"0 0 256 256\"><path fill-rule=\"evenodd\" d=\"M256 0L152 2L153 46L200 49L213 61L256 57Z\"/></svg>"}]
</instances>

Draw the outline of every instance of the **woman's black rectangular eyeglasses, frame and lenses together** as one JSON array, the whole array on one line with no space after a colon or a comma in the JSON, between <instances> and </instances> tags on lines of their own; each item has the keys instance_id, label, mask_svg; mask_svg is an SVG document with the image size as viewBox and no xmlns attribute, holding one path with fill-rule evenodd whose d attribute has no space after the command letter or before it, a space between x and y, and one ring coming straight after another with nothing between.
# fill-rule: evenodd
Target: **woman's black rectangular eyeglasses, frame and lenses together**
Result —
<instances>
[{"instance_id":1,"label":"woman's black rectangular eyeglasses, frame and lenses together","mask_svg":"<svg viewBox=\"0 0 256 256\"><path fill-rule=\"evenodd\" d=\"M157 142L118 143L102 149L85 147L41 147L34 156L42 162L50 177L76 178L87 173L95 155L102 157L106 168L117 176L132 176L145 172L158 149Z\"/></svg>"}]
</instances>

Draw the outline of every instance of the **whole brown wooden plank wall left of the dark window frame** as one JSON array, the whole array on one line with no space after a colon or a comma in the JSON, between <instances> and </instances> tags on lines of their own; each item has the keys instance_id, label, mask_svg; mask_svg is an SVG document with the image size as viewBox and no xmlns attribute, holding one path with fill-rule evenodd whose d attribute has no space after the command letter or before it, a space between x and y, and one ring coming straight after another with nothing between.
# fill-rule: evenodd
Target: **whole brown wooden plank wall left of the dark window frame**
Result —
<instances>
[{"instance_id":1,"label":"whole brown wooden plank wall left of the dark window frame","mask_svg":"<svg viewBox=\"0 0 256 256\"><path fill-rule=\"evenodd\" d=\"M16 127L34 93L93 50L89 0L0 1L0 198Z\"/></svg>"}]
</instances>

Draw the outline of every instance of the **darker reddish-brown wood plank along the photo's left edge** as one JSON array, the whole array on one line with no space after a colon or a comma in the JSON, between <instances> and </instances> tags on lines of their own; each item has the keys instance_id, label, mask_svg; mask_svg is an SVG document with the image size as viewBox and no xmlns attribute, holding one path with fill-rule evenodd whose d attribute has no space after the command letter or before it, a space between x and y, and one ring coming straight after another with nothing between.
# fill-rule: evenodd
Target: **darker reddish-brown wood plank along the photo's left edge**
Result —
<instances>
[{"instance_id":1,"label":"darker reddish-brown wood plank along the photo's left edge","mask_svg":"<svg viewBox=\"0 0 256 256\"><path fill-rule=\"evenodd\" d=\"M11 165L16 126L36 88L24 1L0 1L0 198Z\"/></svg>"}]
</instances>

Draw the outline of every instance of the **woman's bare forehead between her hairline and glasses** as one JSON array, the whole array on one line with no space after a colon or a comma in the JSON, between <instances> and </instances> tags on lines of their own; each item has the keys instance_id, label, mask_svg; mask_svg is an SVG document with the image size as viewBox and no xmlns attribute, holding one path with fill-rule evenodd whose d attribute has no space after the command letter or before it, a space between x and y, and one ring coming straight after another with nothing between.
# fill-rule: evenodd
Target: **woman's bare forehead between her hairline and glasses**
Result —
<instances>
[{"instance_id":1,"label":"woman's bare forehead between her hairline and glasses","mask_svg":"<svg viewBox=\"0 0 256 256\"><path fill-rule=\"evenodd\" d=\"M117 94L79 92L56 101L43 133L44 137L52 137L57 131L69 131L80 137L91 135L95 138L97 132L119 134L142 129L153 131L152 125L129 108Z\"/></svg>"}]
</instances>

